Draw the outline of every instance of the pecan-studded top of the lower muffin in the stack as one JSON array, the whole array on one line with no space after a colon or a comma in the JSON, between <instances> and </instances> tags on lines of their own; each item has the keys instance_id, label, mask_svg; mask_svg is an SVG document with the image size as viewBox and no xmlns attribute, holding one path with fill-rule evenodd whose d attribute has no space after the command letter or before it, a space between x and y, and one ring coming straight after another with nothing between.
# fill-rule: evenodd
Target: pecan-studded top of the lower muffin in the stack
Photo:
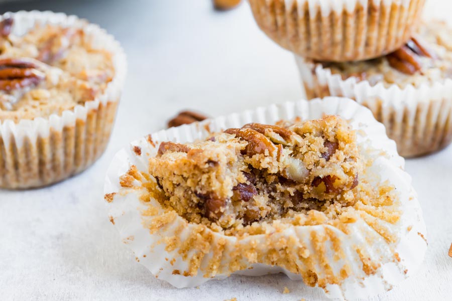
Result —
<instances>
[{"instance_id":1,"label":"pecan-studded top of the lower muffin in the stack","mask_svg":"<svg viewBox=\"0 0 452 301\"><path fill-rule=\"evenodd\" d=\"M444 22L419 26L413 38L399 50L382 58L348 63L321 63L344 80L354 76L373 86L383 83L404 88L432 85L452 77L452 30Z\"/></svg>"}]
</instances>

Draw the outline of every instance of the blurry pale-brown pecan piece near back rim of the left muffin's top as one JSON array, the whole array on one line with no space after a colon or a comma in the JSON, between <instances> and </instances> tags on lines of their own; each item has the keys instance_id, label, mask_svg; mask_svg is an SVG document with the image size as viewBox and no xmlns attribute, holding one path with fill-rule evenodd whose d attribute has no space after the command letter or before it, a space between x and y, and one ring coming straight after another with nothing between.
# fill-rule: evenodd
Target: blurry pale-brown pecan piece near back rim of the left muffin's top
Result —
<instances>
[{"instance_id":1,"label":"blurry pale-brown pecan piece near back rim of the left muffin's top","mask_svg":"<svg viewBox=\"0 0 452 301\"><path fill-rule=\"evenodd\" d=\"M77 37L81 37L81 29L64 28L54 33L39 49L37 59L51 64L64 56L64 52L73 44Z\"/></svg>"}]
</instances>

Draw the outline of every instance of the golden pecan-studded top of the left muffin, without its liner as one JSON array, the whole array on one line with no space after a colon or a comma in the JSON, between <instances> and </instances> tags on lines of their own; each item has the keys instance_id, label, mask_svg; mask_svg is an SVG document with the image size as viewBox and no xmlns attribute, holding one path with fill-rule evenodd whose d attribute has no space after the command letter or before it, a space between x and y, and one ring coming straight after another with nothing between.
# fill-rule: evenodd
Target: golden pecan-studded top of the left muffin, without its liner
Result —
<instances>
[{"instance_id":1,"label":"golden pecan-studded top of the left muffin, without its liner","mask_svg":"<svg viewBox=\"0 0 452 301\"><path fill-rule=\"evenodd\" d=\"M94 100L115 75L112 54L80 28L36 24L24 35L0 22L0 122L60 115Z\"/></svg>"}]
</instances>

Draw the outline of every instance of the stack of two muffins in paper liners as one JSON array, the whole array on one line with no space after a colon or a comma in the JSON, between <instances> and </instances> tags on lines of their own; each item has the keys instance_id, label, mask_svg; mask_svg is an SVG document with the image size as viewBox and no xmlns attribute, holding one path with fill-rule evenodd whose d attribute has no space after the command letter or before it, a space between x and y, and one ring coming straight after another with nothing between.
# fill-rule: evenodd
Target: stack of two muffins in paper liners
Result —
<instances>
[{"instance_id":1,"label":"stack of two muffins in paper liners","mask_svg":"<svg viewBox=\"0 0 452 301\"><path fill-rule=\"evenodd\" d=\"M452 141L452 29L423 0L250 0L259 27L296 54L308 99L346 96L414 157Z\"/></svg>"}]
</instances>

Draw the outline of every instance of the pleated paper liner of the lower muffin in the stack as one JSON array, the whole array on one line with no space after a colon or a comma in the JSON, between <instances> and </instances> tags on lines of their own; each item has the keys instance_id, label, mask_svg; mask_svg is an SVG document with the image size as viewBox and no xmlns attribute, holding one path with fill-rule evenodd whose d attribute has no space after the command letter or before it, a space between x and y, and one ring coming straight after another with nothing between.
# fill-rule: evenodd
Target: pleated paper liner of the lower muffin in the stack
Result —
<instances>
[{"instance_id":1,"label":"pleated paper liner of the lower muffin in the stack","mask_svg":"<svg viewBox=\"0 0 452 301\"><path fill-rule=\"evenodd\" d=\"M425 155L452 141L452 79L418 87L385 87L382 82L371 85L353 76L343 79L300 57L296 61L308 99L344 96L368 107L396 141L400 155Z\"/></svg>"}]
</instances>

